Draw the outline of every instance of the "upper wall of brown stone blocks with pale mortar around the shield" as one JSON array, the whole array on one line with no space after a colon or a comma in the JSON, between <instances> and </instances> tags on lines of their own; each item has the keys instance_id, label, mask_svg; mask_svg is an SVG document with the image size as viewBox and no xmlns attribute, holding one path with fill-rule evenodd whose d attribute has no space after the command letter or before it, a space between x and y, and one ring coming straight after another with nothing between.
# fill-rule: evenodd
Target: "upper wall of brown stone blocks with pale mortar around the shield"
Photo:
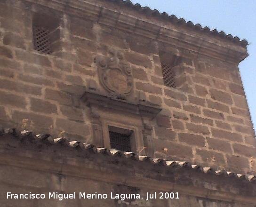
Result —
<instances>
[{"instance_id":1,"label":"upper wall of brown stone blocks with pale mortar around the shield","mask_svg":"<svg viewBox=\"0 0 256 207\"><path fill-rule=\"evenodd\" d=\"M134 96L141 92L147 101L162 108L152 121L156 157L255 173L255 133L237 62L195 54L168 41L163 43L139 32L123 31L104 19L99 21L99 16L85 15L78 8L66 6L63 12L64 8L51 1L42 2L0 0L0 124L3 127L94 143L89 109L81 96L90 86L104 92L95 57L118 51L132 69ZM113 7L104 0L98 4ZM139 15L130 7L118 9ZM35 16L58 19L59 41L50 55L33 49ZM138 17L191 32L192 36L201 35L152 16ZM246 51L236 43L212 35L203 37L220 47ZM179 65L184 77L182 87L164 86L160 51L183 58Z\"/></svg>"}]
</instances>

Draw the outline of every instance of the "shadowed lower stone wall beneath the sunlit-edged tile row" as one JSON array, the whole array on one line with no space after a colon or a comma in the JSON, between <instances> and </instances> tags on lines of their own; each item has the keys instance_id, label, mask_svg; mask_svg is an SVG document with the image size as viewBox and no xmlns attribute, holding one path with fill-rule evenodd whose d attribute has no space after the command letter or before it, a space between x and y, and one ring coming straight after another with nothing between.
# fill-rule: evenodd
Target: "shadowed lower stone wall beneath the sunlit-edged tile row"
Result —
<instances>
[{"instance_id":1,"label":"shadowed lower stone wall beneath the sunlit-edged tile row","mask_svg":"<svg viewBox=\"0 0 256 207\"><path fill-rule=\"evenodd\" d=\"M255 180L215 175L176 165L139 161L110 151L52 142L32 135L0 134L1 207L254 207ZM121 166L121 167L120 167ZM16 194L45 194L45 199L11 199ZM76 199L48 199L48 193L76 194ZM79 194L107 194L84 199ZM147 193L156 192L156 199ZM179 199L160 199L160 192ZM111 198L112 193L112 198ZM139 194L140 199L115 197Z\"/></svg>"}]
</instances>

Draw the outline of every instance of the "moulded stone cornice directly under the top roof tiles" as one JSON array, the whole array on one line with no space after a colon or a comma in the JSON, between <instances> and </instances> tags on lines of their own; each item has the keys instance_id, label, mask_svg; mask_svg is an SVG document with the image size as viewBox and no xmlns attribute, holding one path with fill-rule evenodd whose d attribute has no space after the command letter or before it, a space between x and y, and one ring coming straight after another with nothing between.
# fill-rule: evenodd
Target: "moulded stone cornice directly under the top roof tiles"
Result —
<instances>
[{"instance_id":1,"label":"moulded stone cornice directly under the top roof tiles","mask_svg":"<svg viewBox=\"0 0 256 207\"><path fill-rule=\"evenodd\" d=\"M112 10L86 0L26 0L40 4L80 18L87 18L99 24L108 25L127 32L142 35L152 40L180 48L191 53L195 58L208 56L220 61L239 64L248 56L247 48L226 40L205 36L200 32L191 32L184 28L170 27L168 24L157 24L152 19L142 18Z\"/></svg>"}]
</instances>

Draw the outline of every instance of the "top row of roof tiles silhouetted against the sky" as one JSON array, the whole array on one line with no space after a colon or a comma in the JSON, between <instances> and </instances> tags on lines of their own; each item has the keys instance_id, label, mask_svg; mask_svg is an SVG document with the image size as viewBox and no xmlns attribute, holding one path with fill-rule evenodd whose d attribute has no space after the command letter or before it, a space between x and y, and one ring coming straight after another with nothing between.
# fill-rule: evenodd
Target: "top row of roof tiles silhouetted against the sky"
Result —
<instances>
[{"instance_id":1,"label":"top row of roof tiles silhouetted against the sky","mask_svg":"<svg viewBox=\"0 0 256 207\"><path fill-rule=\"evenodd\" d=\"M166 12L160 13L159 10L157 9L151 9L149 7L142 7L140 4L133 4L130 0L110 0L114 1L116 3L120 3L122 5L126 5L129 7L132 7L140 12L144 12L147 15L152 15L152 16L158 16L163 19L166 19L174 24L180 24L180 25L186 25L188 27L191 27L195 30L216 35L220 38L225 38L227 40L231 40L232 42L238 43L241 46L247 46L248 41L247 40L240 40L239 37L233 37L232 34L226 34L223 31L218 32L216 29L210 30L209 27L202 27L200 24L193 24L191 21L186 22L184 18L177 18L175 15L168 15Z\"/></svg>"}]
</instances>

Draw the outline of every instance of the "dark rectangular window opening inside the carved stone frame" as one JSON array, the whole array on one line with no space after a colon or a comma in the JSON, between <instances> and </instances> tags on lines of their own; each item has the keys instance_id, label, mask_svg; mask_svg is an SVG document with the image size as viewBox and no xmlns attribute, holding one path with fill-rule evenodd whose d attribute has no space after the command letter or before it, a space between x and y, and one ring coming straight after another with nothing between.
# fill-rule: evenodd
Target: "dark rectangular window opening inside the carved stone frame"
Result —
<instances>
[{"instance_id":1,"label":"dark rectangular window opening inside the carved stone frame","mask_svg":"<svg viewBox=\"0 0 256 207\"><path fill-rule=\"evenodd\" d=\"M132 151L131 143L133 131L109 126L109 139L112 149L120 151Z\"/></svg>"}]
</instances>

